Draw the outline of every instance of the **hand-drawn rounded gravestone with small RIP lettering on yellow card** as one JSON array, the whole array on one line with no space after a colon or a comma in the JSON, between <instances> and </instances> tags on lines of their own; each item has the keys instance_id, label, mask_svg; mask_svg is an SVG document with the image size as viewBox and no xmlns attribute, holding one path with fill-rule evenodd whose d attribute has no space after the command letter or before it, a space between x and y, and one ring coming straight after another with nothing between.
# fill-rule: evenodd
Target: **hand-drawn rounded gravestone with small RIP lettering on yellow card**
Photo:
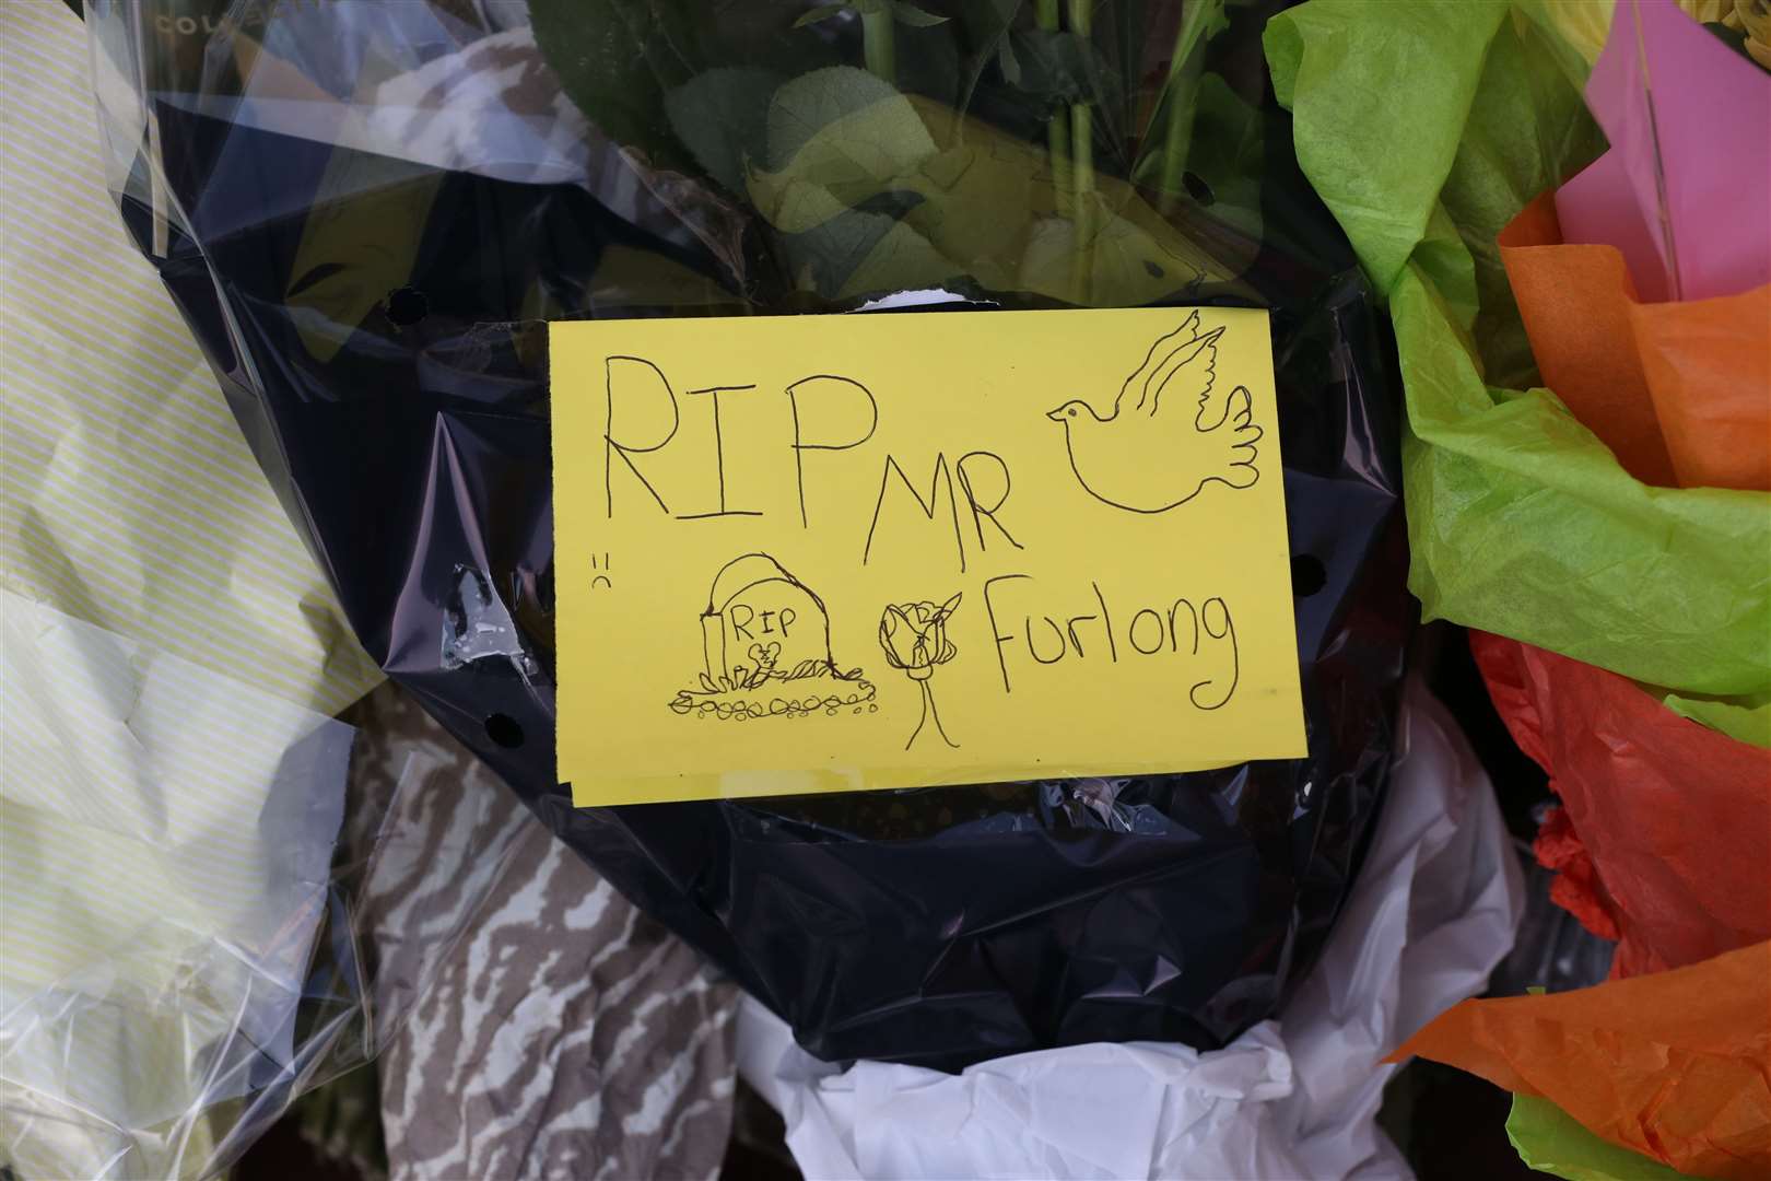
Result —
<instances>
[{"instance_id":1,"label":"hand-drawn rounded gravestone with small RIP lettering on yellow card","mask_svg":"<svg viewBox=\"0 0 1771 1181\"><path fill-rule=\"evenodd\" d=\"M742 683L760 666L832 668L824 600L769 554L735 558L714 577L701 614L701 648L715 683Z\"/></svg>"}]
</instances>

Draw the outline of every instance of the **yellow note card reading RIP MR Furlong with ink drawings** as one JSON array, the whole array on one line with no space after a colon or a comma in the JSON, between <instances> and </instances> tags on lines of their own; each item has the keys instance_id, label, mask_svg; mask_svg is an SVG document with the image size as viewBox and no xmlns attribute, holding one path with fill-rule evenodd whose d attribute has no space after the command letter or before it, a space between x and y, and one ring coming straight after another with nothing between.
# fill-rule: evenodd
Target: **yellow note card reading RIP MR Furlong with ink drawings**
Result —
<instances>
[{"instance_id":1,"label":"yellow note card reading RIP MR Furlong with ink drawings","mask_svg":"<svg viewBox=\"0 0 1771 1181\"><path fill-rule=\"evenodd\" d=\"M554 324L579 806L1305 754L1264 312Z\"/></svg>"}]
</instances>

